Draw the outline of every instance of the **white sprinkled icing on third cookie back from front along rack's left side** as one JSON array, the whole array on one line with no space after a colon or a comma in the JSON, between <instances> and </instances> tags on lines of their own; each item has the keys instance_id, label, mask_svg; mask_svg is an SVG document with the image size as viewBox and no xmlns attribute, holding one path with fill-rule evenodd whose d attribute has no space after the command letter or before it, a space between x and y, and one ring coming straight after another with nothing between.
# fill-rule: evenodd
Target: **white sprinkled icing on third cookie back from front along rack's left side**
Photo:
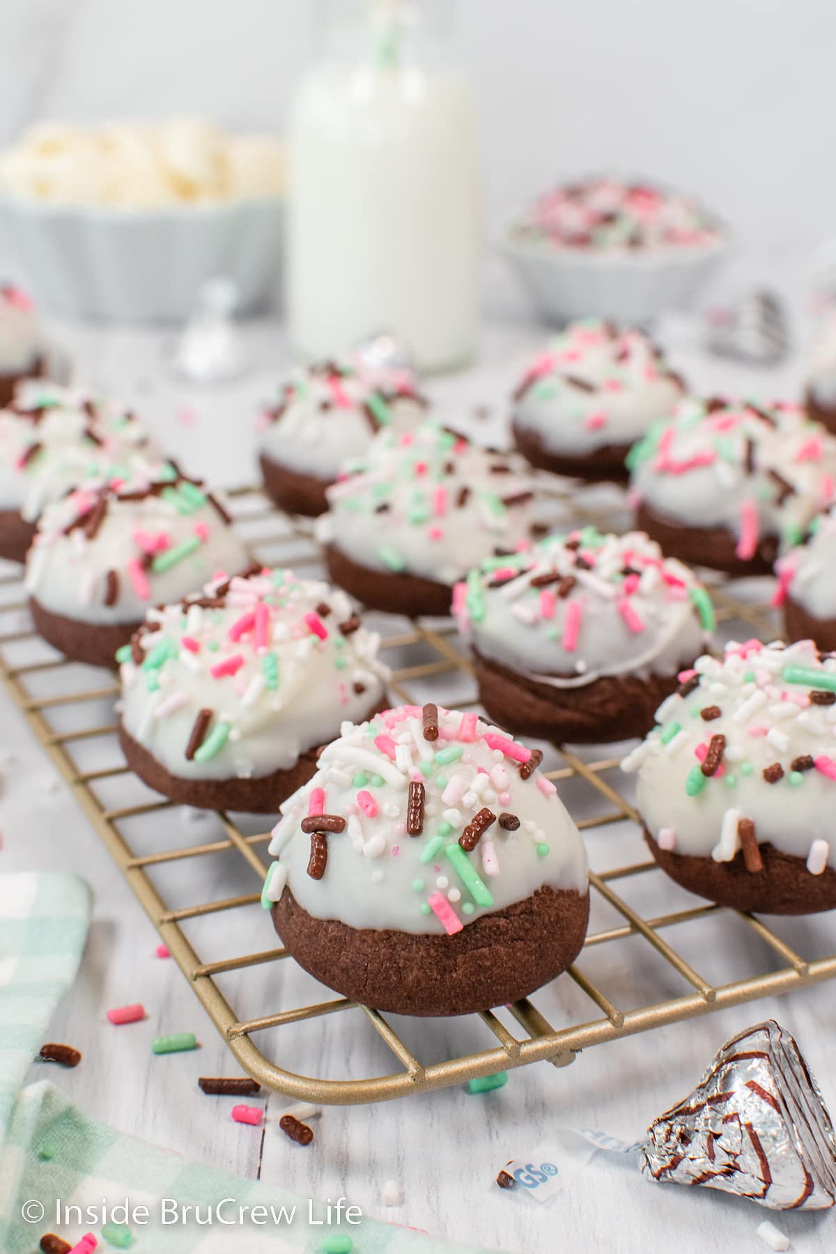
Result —
<instances>
[{"instance_id":1,"label":"white sprinkled icing on third cookie back from front along rack's left side","mask_svg":"<svg viewBox=\"0 0 836 1254\"><path fill-rule=\"evenodd\" d=\"M249 556L223 507L168 464L124 485L89 480L49 505L26 557L44 609L89 623L133 623Z\"/></svg>"}]
</instances>

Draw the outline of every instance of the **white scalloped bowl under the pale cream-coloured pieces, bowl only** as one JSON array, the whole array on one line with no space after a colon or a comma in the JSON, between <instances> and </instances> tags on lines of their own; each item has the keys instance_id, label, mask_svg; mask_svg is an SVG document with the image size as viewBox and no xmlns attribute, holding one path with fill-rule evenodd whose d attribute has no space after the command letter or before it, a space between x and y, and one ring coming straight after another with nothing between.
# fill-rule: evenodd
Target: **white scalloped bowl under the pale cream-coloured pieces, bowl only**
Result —
<instances>
[{"instance_id":1,"label":"white scalloped bowl under the pale cream-coloured pieces, bowl only","mask_svg":"<svg viewBox=\"0 0 836 1254\"><path fill-rule=\"evenodd\" d=\"M50 314L125 322L182 321L206 280L238 287L238 312L278 291L285 236L280 198L150 209L0 199L4 251Z\"/></svg>"}]
</instances>

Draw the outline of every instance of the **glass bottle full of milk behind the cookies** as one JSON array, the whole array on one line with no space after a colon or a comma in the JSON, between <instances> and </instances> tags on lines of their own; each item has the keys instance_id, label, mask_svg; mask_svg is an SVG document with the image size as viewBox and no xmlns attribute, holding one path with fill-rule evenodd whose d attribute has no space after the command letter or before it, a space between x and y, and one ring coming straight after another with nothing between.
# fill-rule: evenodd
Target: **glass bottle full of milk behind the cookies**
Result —
<instances>
[{"instance_id":1,"label":"glass bottle full of milk behind the cookies","mask_svg":"<svg viewBox=\"0 0 836 1254\"><path fill-rule=\"evenodd\" d=\"M375 331L424 370L474 351L474 107L445 55L454 0L331 0L290 125L288 317L306 357Z\"/></svg>"}]
</instances>

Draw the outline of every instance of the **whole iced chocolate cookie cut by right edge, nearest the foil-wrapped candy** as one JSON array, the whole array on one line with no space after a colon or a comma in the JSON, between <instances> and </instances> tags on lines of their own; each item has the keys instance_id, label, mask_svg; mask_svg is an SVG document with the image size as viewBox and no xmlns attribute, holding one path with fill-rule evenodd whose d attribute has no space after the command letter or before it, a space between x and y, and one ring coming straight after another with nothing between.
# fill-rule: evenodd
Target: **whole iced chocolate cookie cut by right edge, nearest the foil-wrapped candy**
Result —
<instances>
[{"instance_id":1,"label":"whole iced chocolate cookie cut by right edge, nearest the foil-wrapped candy","mask_svg":"<svg viewBox=\"0 0 836 1254\"><path fill-rule=\"evenodd\" d=\"M836 907L836 657L751 640L682 681L622 764L656 860L733 909Z\"/></svg>"}]
</instances>

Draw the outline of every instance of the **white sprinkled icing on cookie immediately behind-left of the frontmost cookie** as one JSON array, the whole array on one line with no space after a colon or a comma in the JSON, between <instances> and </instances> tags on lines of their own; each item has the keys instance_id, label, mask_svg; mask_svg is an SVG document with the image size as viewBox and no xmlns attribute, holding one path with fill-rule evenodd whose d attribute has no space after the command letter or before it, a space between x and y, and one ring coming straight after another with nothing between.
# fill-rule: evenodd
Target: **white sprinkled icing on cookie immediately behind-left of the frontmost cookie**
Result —
<instances>
[{"instance_id":1,"label":"white sprinkled icing on cookie immediately behind-left of the frontmost cookie","mask_svg":"<svg viewBox=\"0 0 836 1254\"><path fill-rule=\"evenodd\" d=\"M343 592L292 571L234 577L222 596L209 584L149 609L120 650L122 721L178 777L269 775L381 701L379 643ZM212 719L187 757L202 710Z\"/></svg>"}]
</instances>

